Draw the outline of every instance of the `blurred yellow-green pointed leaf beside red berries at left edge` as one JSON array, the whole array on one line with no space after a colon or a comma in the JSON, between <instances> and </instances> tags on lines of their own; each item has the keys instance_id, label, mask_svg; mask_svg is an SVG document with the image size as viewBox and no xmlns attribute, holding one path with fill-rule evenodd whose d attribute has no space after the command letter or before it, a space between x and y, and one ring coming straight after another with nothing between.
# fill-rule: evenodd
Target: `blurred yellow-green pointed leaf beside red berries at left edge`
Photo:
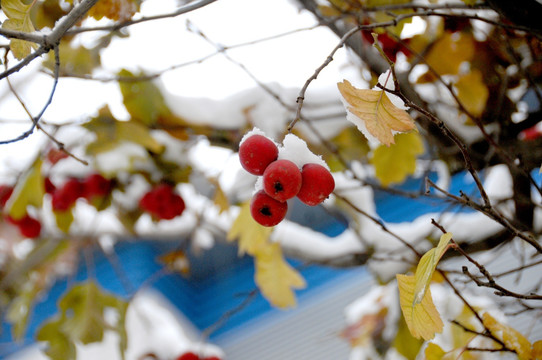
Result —
<instances>
[{"instance_id":1,"label":"blurred yellow-green pointed leaf beside red berries at left edge","mask_svg":"<svg viewBox=\"0 0 542 360\"><path fill-rule=\"evenodd\" d=\"M13 219L18 220L26 215L26 207L33 205L40 208L45 195L45 182L41 175L41 159L34 161L32 167L17 182L6 208Z\"/></svg>"}]
</instances>

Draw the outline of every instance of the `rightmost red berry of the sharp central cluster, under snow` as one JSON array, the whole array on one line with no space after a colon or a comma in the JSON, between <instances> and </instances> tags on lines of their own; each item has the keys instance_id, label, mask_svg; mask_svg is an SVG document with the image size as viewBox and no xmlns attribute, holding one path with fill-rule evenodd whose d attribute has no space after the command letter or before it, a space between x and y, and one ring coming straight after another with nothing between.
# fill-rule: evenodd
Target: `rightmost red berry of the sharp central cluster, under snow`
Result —
<instances>
[{"instance_id":1,"label":"rightmost red berry of the sharp central cluster, under snow","mask_svg":"<svg viewBox=\"0 0 542 360\"><path fill-rule=\"evenodd\" d=\"M322 165L305 164L301 169L301 176L303 180L297 197L309 206L320 204L335 189L333 176Z\"/></svg>"}]
</instances>

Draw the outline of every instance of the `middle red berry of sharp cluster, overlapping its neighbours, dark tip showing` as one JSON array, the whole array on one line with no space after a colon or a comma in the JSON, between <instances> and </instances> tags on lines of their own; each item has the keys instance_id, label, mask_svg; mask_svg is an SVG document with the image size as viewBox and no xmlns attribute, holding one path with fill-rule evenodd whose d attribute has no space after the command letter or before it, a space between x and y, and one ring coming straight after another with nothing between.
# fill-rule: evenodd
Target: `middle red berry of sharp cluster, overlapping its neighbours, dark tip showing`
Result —
<instances>
[{"instance_id":1,"label":"middle red berry of sharp cluster, overlapping its neighbours, dark tip showing","mask_svg":"<svg viewBox=\"0 0 542 360\"><path fill-rule=\"evenodd\" d=\"M301 171L290 160L273 161L263 173L263 189L273 199L284 202L301 188Z\"/></svg>"}]
</instances>

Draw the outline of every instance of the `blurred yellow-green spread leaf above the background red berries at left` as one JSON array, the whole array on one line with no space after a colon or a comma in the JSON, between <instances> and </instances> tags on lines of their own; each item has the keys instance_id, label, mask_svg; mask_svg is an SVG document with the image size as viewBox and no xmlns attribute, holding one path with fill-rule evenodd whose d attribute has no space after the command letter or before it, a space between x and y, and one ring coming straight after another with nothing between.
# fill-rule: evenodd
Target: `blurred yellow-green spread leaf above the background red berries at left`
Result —
<instances>
[{"instance_id":1,"label":"blurred yellow-green spread leaf above the background red berries at left","mask_svg":"<svg viewBox=\"0 0 542 360\"><path fill-rule=\"evenodd\" d=\"M96 134L96 139L86 149L91 155L113 150L126 141L141 145L156 154L164 151L164 145L152 137L149 128L135 121L118 121L107 107L100 109L98 116L83 127Z\"/></svg>"}]
</instances>

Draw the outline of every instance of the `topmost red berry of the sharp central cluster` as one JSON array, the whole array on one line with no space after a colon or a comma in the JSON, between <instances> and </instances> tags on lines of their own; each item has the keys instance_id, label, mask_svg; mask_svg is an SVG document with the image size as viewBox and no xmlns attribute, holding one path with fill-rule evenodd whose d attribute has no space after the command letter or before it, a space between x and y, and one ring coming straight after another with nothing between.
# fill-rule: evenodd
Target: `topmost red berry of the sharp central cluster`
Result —
<instances>
[{"instance_id":1,"label":"topmost red berry of the sharp central cluster","mask_svg":"<svg viewBox=\"0 0 542 360\"><path fill-rule=\"evenodd\" d=\"M275 143L262 135L252 135L239 147L239 161L251 174L263 175L267 165L278 157L279 150Z\"/></svg>"}]
</instances>

